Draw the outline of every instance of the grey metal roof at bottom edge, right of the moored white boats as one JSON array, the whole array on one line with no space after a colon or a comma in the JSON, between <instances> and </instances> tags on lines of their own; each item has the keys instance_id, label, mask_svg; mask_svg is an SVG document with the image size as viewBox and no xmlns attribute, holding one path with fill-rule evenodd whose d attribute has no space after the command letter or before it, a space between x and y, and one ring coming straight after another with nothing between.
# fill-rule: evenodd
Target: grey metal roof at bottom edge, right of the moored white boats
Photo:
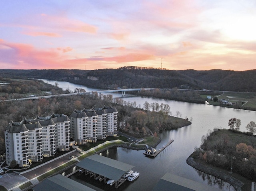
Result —
<instances>
[{"instance_id":1,"label":"grey metal roof at bottom edge, right of the moored white boats","mask_svg":"<svg viewBox=\"0 0 256 191\"><path fill-rule=\"evenodd\" d=\"M171 173L166 173L152 191L220 191L220 189L198 183Z\"/></svg>"}]
</instances>

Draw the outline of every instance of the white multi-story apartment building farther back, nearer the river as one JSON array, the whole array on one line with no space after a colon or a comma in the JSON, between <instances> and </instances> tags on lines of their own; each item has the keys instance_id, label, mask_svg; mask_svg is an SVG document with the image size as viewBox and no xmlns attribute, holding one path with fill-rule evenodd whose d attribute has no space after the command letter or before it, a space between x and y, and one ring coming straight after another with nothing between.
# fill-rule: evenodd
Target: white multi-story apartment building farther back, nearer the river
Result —
<instances>
[{"instance_id":1,"label":"white multi-story apartment building farther back, nearer the river","mask_svg":"<svg viewBox=\"0 0 256 191\"><path fill-rule=\"evenodd\" d=\"M70 115L72 138L76 144L105 140L117 135L116 108L102 107L75 110Z\"/></svg>"}]
</instances>

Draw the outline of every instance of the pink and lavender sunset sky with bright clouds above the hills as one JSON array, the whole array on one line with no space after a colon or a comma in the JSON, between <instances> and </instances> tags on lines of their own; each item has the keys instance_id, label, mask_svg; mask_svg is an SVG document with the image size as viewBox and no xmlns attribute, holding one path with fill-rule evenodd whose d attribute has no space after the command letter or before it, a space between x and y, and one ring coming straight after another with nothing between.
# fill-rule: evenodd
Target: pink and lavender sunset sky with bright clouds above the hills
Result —
<instances>
[{"instance_id":1,"label":"pink and lavender sunset sky with bright clouds above the hills","mask_svg":"<svg viewBox=\"0 0 256 191\"><path fill-rule=\"evenodd\" d=\"M256 69L255 0L1 0L0 69Z\"/></svg>"}]
</instances>

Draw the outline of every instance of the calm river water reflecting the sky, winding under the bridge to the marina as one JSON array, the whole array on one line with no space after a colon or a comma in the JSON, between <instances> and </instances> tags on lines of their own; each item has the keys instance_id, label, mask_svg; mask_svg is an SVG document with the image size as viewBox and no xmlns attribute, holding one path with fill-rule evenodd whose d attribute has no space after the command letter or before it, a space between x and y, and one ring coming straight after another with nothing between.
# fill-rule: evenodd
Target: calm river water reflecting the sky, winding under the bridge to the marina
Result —
<instances>
[{"instance_id":1,"label":"calm river water reflecting the sky, winding under the bridge to the marina","mask_svg":"<svg viewBox=\"0 0 256 191\"><path fill-rule=\"evenodd\" d=\"M54 85L55 81L44 80L47 83ZM97 89L90 89L81 85L75 85L68 82L58 81L59 87L62 89L71 89L71 87L83 88L86 91L97 91ZM122 97L120 94L113 94L113 97ZM208 176L200 171L197 171L190 165L187 165L186 159L194 151L194 147L199 147L201 144L201 138L208 130L213 128L228 128L228 120L230 118L239 118L241 120L241 131L246 131L245 126L253 121L256 117L255 111L238 110L233 108L223 108L218 106L210 106L205 104L194 104L187 102L179 102L172 100L164 100L157 98L142 98L140 96L126 95L123 97L125 101L136 101L137 106L143 107L145 101L152 103L158 102L164 103L170 106L170 110L174 115L176 111L180 111L182 118L192 118L192 124L187 127L180 128L178 130L166 131L161 134L162 142L159 146L162 146L170 139L174 139L174 142L162 151L156 158L147 158L143 155L144 151L134 151L124 148L112 148L102 153L102 156L107 156L118 161L128 163L135 166L135 170L140 172L140 177L132 182L125 182L117 190L152 190L154 185L159 179L167 172L174 173L181 177L192 179L194 181L210 184L214 187L220 187L223 190L234 190L227 183L215 179L212 176ZM79 109L79 108L78 108ZM88 179L88 177L73 175L71 177L76 181L80 181L96 190L116 190L114 187L105 185L94 181L94 179ZM216 183L216 184L215 184ZM217 184L218 183L218 184ZM97 187L95 186L97 185Z\"/></svg>"}]
</instances>

